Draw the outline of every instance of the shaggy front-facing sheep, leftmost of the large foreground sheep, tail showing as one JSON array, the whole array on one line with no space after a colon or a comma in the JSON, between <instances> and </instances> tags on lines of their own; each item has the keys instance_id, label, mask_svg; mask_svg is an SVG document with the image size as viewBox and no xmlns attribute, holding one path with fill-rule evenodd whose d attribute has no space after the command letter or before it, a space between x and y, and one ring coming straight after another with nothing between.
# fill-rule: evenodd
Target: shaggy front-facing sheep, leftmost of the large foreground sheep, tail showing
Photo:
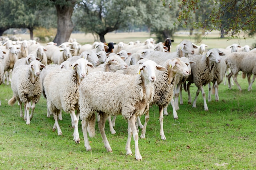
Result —
<instances>
[{"instance_id":1,"label":"shaggy front-facing sheep, leftmost of the large foreground sheep, tail showing","mask_svg":"<svg viewBox=\"0 0 256 170\"><path fill-rule=\"evenodd\" d=\"M13 97L9 99L8 104L12 106L18 100L20 117L23 117L22 103L24 103L24 120L26 120L26 124L28 125L33 118L35 104L39 102L42 93L40 72L43 68L45 68L45 65L38 60L34 60L29 65L16 67L12 72L13 81L11 82L11 89L13 91ZM30 115L29 102L32 102Z\"/></svg>"}]
</instances>

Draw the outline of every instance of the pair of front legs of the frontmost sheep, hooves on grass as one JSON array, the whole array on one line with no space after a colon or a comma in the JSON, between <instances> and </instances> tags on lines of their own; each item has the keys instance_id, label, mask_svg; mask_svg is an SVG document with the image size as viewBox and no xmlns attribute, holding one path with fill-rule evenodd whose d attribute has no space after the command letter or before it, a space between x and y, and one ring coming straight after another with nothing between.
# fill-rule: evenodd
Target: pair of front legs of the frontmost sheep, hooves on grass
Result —
<instances>
[{"instance_id":1,"label":"pair of front legs of the frontmost sheep, hooves on grass","mask_svg":"<svg viewBox=\"0 0 256 170\"><path fill-rule=\"evenodd\" d=\"M134 145L135 145L135 158L137 161L140 161L142 160L142 157L139 153L139 135L135 126L136 119L137 117L135 115L132 115L132 117L130 117L130 119L128 120L128 140L131 140L129 138L131 138L131 135L133 135ZM126 148L130 148L130 143L128 143L128 140L127 140ZM127 152L126 150L126 155L130 155L127 153L129 152Z\"/></svg>"}]
</instances>

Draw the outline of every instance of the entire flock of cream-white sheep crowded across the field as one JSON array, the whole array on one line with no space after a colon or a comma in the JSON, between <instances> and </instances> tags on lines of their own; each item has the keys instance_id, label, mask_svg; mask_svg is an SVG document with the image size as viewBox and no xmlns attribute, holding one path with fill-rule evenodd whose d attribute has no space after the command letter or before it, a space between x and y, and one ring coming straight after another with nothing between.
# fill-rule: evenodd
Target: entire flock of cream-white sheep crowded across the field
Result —
<instances>
[{"instance_id":1,"label":"entire flock of cream-white sheep crowded across the field","mask_svg":"<svg viewBox=\"0 0 256 170\"><path fill-rule=\"evenodd\" d=\"M166 140L163 115L168 114L167 107L171 104L173 117L178 119L179 96L180 104L183 104L182 88L188 92L188 103L191 104L189 89L194 83L198 90L193 107L196 107L201 91L204 110L209 110L203 86L209 86L208 101L211 101L212 83L215 99L219 101L218 85L223 78L228 78L231 89L230 78L234 76L241 91L236 78L242 71L243 76L247 76L250 91L256 76L256 49L249 46L233 44L226 49L207 51L206 44L196 46L183 40L171 52L171 42L173 40L167 38L156 44L150 38L143 43L80 45L72 41L59 46L49 42L43 46L34 40L13 42L4 39L0 45L0 84L11 82L13 97L8 104L18 101L20 117L24 117L26 124L30 124L41 95L47 100L47 117L53 115L53 129L58 135L62 135L58 120L62 120L63 110L70 113L73 140L80 143L78 123L81 119L86 150L91 150L88 134L90 137L95 135L97 119L104 146L112 152L105 123L108 120L110 131L115 134L115 118L123 115L128 121L126 154L132 155L130 141L133 136L135 158L141 160L138 126L142 128L140 137L145 138L150 106L159 106L160 136ZM228 71L230 73L225 76ZM143 114L144 125L140 121Z\"/></svg>"}]
</instances>

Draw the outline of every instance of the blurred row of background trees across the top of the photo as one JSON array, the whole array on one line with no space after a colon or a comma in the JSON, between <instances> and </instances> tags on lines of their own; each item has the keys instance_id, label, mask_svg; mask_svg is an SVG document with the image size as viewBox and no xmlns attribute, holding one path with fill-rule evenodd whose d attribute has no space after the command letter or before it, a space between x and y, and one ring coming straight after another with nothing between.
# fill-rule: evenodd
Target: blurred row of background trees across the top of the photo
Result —
<instances>
[{"instance_id":1,"label":"blurred row of background trees across the top of the photo","mask_svg":"<svg viewBox=\"0 0 256 170\"><path fill-rule=\"evenodd\" d=\"M0 35L28 29L57 44L72 32L92 33L105 42L112 31L148 31L157 41L179 29L191 34L220 31L220 37L255 34L255 0L0 0ZM39 31L38 31L39 30ZM45 35L45 36L44 36Z\"/></svg>"}]
</instances>

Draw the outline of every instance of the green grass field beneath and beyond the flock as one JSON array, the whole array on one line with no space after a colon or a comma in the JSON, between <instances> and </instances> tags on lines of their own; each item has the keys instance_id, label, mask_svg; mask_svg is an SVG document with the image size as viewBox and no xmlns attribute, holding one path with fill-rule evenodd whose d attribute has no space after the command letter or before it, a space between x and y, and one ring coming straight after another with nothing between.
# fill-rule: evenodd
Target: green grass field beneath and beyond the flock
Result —
<instances>
[{"instance_id":1,"label":"green grass field beneath and beyond the flock","mask_svg":"<svg viewBox=\"0 0 256 170\"><path fill-rule=\"evenodd\" d=\"M141 33L142 34L142 33ZM148 38L128 36L127 40ZM132 38L133 37L133 38ZM185 35L180 36L182 40ZM112 37L114 39L114 37ZM186 38L189 39L189 38ZM110 39L107 39L111 41ZM118 40L118 39L115 39ZM121 39L120 39L121 40ZM220 39L212 38L211 42L221 45ZM176 39L175 39L176 41ZM176 42L177 42L176 41ZM222 41L222 40L221 40ZM232 40L233 41L233 40ZM229 44L228 41L226 43ZM255 42L253 38L247 40ZM207 42L204 42L207 44ZM233 42L232 42L233 43ZM230 43L230 44L232 44ZM242 42L241 42L242 43ZM224 43L225 44L225 43ZM222 44L224 46L224 44ZM241 44L243 45L243 44ZM226 45L225 45L226 46ZM96 136L89 138L92 148L87 152L84 147L81 122L79 134L81 143L72 140L73 128L70 115L63 113L59 121L63 135L58 136L52 130L53 117L47 118L46 100L41 97L36 104L31 125L20 117L19 106L8 106L12 97L11 86L0 86L0 169L1 170L253 170L256 169L256 86L247 91L246 79L238 76L243 91L236 85L229 90L227 85L220 84L220 101L207 102L209 111L204 111L200 93L197 108L187 104L187 94L183 91L184 105L177 111L178 121L173 120L172 107L168 107L168 116L164 117L166 141L159 135L159 111L157 106L150 108L146 138L139 139L139 150L142 161L126 155L127 122L118 116L115 130L111 135L106 123L106 135L113 153L104 148L101 135L96 127ZM204 87L208 95L207 86ZM196 88L191 87L192 99ZM142 123L144 116L141 117ZM97 123L96 123L97 126ZM140 132L139 132L140 135ZM134 153L134 141L131 142Z\"/></svg>"}]
</instances>

